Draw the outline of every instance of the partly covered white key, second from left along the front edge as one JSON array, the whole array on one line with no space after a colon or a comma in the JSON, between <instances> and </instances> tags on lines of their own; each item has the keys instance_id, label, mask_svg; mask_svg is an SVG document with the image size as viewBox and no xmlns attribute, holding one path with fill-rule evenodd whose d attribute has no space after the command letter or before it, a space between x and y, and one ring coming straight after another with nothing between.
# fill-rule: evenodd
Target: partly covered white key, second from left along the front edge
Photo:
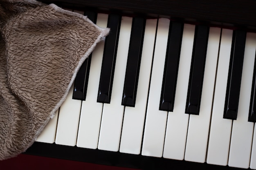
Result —
<instances>
[{"instance_id":1,"label":"partly covered white key, second from left along the front edge","mask_svg":"<svg viewBox=\"0 0 256 170\"><path fill-rule=\"evenodd\" d=\"M72 85L67 95L67 98L61 105L59 111L55 139L56 144L66 146L76 145L77 129L79 126L79 117L82 102L80 100L72 99L73 88L74 86Z\"/></svg>"}]
</instances>

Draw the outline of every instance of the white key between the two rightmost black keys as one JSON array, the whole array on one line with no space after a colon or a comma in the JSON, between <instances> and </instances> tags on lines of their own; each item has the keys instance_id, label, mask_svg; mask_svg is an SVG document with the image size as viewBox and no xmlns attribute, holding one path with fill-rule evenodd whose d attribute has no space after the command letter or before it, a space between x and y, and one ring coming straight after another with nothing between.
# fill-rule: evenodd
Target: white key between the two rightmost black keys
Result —
<instances>
[{"instance_id":1,"label":"white key between the two rightmost black keys","mask_svg":"<svg viewBox=\"0 0 256 170\"><path fill-rule=\"evenodd\" d=\"M237 119L233 121L228 165L249 168L254 123L248 122L256 33L247 33Z\"/></svg>"}]
</instances>

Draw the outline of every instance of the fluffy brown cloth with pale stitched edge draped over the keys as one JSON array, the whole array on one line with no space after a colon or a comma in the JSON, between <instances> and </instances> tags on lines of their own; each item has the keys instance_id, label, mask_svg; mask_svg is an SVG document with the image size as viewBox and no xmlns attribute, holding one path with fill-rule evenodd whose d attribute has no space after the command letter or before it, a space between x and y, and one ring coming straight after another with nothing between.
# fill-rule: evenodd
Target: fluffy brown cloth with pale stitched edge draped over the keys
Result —
<instances>
[{"instance_id":1,"label":"fluffy brown cloth with pale stitched edge draped over the keys","mask_svg":"<svg viewBox=\"0 0 256 170\"><path fill-rule=\"evenodd\" d=\"M0 0L0 160L24 152L109 29L54 4Z\"/></svg>"}]
</instances>

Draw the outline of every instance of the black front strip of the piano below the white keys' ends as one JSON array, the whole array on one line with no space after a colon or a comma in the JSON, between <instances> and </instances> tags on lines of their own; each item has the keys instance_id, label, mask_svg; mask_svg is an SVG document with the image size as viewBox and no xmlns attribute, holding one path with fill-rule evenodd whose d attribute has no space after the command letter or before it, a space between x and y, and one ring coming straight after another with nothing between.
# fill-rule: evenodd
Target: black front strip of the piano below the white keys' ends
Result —
<instances>
[{"instance_id":1,"label":"black front strip of the piano below the white keys' ends","mask_svg":"<svg viewBox=\"0 0 256 170\"><path fill-rule=\"evenodd\" d=\"M142 155L132 155L120 152L110 152L104 150L86 149L57 144L46 144L34 142L23 154L66 159L95 163L107 166L117 166L126 168L137 168L141 170L172 170L172 169L198 169L198 170L238 170L229 166L217 166L207 163L195 163L189 161L179 161L172 159L146 157Z\"/></svg>"}]
</instances>

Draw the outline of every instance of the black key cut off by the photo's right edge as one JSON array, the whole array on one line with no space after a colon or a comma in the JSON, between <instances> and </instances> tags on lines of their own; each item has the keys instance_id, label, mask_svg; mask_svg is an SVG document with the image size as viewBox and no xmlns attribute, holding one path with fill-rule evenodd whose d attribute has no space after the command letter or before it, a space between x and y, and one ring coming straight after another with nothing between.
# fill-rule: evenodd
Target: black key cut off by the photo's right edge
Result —
<instances>
[{"instance_id":1,"label":"black key cut off by the photo's right edge","mask_svg":"<svg viewBox=\"0 0 256 170\"><path fill-rule=\"evenodd\" d=\"M255 56L256 57L256 56ZM254 72L253 72L253 79L252 79L252 93L251 93L251 102L249 108L249 117L248 121L256 122L256 60L254 61Z\"/></svg>"}]
</instances>

